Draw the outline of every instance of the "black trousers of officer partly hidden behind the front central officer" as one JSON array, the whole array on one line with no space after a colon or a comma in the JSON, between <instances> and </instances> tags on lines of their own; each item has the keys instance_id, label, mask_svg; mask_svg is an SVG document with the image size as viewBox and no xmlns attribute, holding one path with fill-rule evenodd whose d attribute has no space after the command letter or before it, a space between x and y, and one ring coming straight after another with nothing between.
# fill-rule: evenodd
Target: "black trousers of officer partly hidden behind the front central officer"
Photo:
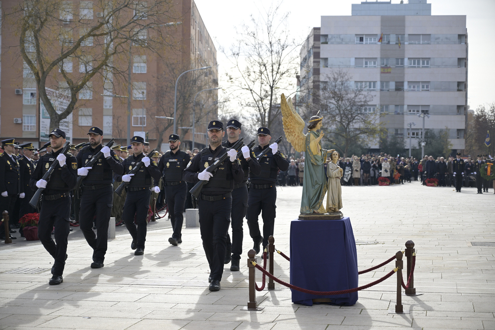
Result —
<instances>
[{"instance_id":1,"label":"black trousers of officer partly hidden behind the front central officer","mask_svg":"<svg viewBox=\"0 0 495 330\"><path fill-rule=\"evenodd\" d=\"M240 260L243 253L243 222L247 212L247 186L232 190L232 242L227 229L227 246L232 246L232 259Z\"/></svg>"}]
</instances>

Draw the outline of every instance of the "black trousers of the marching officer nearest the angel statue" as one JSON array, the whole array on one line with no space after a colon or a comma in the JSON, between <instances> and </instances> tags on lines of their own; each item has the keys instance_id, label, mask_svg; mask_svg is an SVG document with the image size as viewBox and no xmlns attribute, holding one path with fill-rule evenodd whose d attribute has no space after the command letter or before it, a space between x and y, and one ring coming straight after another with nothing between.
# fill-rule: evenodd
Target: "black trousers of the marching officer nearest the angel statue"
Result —
<instances>
[{"instance_id":1,"label":"black trousers of the marching officer nearest the angel statue","mask_svg":"<svg viewBox=\"0 0 495 330\"><path fill-rule=\"evenodd\" d=\"M350 181L350 179L349 179ZM273 227L275 226L275 201L277 200L277 189L275 184L267 189L249 188L247 197L247 226L249 227L249 236L253 241L261 237L258 225L258 216L261 213L263 219L263 247L268 245L268 237L273 236Z\"/></svg>"}]
</instances>

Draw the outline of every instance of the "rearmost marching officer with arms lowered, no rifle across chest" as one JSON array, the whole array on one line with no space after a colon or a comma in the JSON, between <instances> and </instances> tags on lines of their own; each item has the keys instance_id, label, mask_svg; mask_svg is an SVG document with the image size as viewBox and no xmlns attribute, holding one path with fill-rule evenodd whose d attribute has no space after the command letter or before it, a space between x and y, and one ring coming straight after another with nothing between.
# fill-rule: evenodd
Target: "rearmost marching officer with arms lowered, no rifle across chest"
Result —
<instances>
[{"instance_id":1,"label":"rearmost marching officer with arms lowered, no rifle across chest","mask_svg":"<svg viewBox=\"0 0 495 330\"><path fill-rule=\"evenodd\" d=\"M184 205L186 203L187 184L182 179L182 172L191 161L191 156L180 149L181 141L177 134L168 138L170 151L161 156L158 169L163 176L165 198L172 223L173 234L168 242L174 246L182 243L182 224L184 223ZM155 192L160 192L158 180L155 180Z\"/></svg>"}]
</instances>

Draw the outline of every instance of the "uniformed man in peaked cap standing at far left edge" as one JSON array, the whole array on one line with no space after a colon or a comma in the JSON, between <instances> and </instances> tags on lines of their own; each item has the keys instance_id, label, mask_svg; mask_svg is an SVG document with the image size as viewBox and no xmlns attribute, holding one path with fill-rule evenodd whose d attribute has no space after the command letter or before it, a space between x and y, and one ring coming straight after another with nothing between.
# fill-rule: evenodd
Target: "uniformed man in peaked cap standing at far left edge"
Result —
<instances>
[{"instance_id":1,"label":"uniformed man in peaked cap standing at far left edge","mask_svg":"<svg viewBox=\"0 0 495 330\"><path fill-rule=\"evenodd\" d=\"M3 153L0 154L0 213L7 211L9 215L9 229L10 233L15 233L16 231L11 228L19 228L13 224L10 220L16 219L14 217L14 206L15 201L19 197L19 192L21 190L20 184L20 168L17 157L14 153L15 143L14 139L7 139L1 141L1 147ZM0 214L0 219L3 217ZM14 236L7 236L10 233L5 233L3 223L0 223L0 239L5 239L5 237L10 237L16 239Z\"/></svg>"}]
</instances>

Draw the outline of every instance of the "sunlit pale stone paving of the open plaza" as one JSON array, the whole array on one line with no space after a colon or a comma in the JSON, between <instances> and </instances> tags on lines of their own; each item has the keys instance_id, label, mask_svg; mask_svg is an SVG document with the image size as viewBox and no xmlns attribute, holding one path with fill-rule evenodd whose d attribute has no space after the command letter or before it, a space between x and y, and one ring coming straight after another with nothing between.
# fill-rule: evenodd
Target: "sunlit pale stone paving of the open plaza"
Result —
<instances>
[{"instance_id":1,"label":"sunlit pale stone paving of the open plaza","mask_svg":"<svg viewBox=\"0 0 495 330\"><path fill-rule=\"evenodd\" d=\"M395 314L396 277L359 291L354 306L293 304L291 290L256 292L261 311L247 306L245 221L241 271L226 265L218 292L208 290L208 263L198 228L183 229L171 246L170 221L148 226L145 254L135 256L124 227L108 243L105 266L91 269L92 250L78 228L71 232L64 282L50 286L53 259L40 241L0 244L2 329L185 329L185 330L371 330L495 329L495 195L476 188L431 188L419 182L390 187L343 187L342 209L350 217L359 270L404 250L417 250L414 286ZM301 187L277 188L275 247L289 255L290 223L299 214ZM18 235L18 234L16 234ZM322 257L332 251L314 251ZM290 264L275 255L275 275L289 282ZM258 260L261 263L261 259ZM376 281L390 263L359 276ZM258 285L261 273L256 271Z\"/></svg>"}]
</instances>

